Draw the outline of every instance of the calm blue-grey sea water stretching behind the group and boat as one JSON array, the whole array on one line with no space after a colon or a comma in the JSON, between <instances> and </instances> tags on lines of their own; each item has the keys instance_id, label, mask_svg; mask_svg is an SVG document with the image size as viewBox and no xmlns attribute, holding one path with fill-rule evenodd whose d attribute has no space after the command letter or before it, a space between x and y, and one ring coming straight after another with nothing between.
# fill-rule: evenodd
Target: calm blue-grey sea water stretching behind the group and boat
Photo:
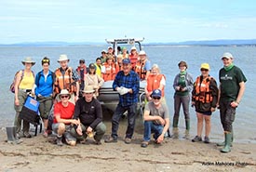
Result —
<instances>
[{"instance_id":1,"label":"calm blue-grey sea water stretching behind the group and boat","mask_svg":"<svg viewBox=\"0 0 256 172\"><path fill-rule=\"evenodd\" d=\"M61 54L67 54L69 66L76 68L79 59L85 59L86 63L94 62L101 55L104 46L0 46L0 127L12 126L15 111L13 109L14 94L8 91L8 86L12 82L14 73L23 69L21 60L31 56L36 61L33 67L34 73L41 70L40 61L47 56L51 60L50 69L54 71L59 67L57 60ZM161 73L167 76L166 99L170 112L172 124L173 117L173 79L179 73L178 63L185 60L188 63L188 72L194 78L200 74L200 64L208 62L210 65L210 75L218 80L219 70L222 68L221 56L223 52L229 51L235 57L235 64L245 73L248 82L246 91L239 107L236 111L236 121L234 123L235 141L243 143L256 143L256 117L255 117L255 92L256 86L256 47L255 46L143 46L149 60L158 64ZM190 109L191 116L191 137L196 135L195 110ZM184 119L181 109L179 127L184 130ZM204 135L203 135L204 136ZM213 141L223 138L222 126L220 122L220 112L213 112L211 117L210 139Z\"/></svg>"}]
</instances>

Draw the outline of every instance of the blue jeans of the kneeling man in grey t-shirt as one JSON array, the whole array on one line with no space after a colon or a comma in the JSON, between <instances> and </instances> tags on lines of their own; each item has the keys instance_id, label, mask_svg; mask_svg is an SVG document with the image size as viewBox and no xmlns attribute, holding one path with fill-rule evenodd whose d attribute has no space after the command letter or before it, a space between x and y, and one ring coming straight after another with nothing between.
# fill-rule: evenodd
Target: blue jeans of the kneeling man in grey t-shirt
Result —
<instances>
[{"instance_id":1,"label":"blue jeans of the kneeling man in grey t-shirt","mask_svg":"<svg viewBox=\"0 0 256 172\"><path fill-rule=\"evenodd\" d=\"M150 141L151 134L154 133L154 139L156 140L163 132L164 126L155 125L152 121L144 122L144 141Z\"/></svg>"}]
</instances>

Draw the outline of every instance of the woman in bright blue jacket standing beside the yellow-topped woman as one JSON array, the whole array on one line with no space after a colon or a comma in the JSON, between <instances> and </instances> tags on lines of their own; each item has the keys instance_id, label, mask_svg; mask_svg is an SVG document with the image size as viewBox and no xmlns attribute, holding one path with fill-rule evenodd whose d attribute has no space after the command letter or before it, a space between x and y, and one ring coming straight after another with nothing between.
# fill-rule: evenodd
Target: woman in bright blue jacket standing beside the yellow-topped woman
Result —
<instances>
[{"instance_id":1,"label":"woman in bright blue jacket standing beside the yellow-topped woman","mask_svg":"<svg viewBox=\"0 0 256 172\"><path fill-rule=\"evenodd\" d=\"M43 70L36 74L35 76L35 89L34 93L36 99L40 102L39 112L44 123L44 134L43 136L47 138L48 136L48 115L53 104L53 84L54 84L54 73L49 70L50 60L45 57L42 61Z\"/></svg>"}]
</instances>

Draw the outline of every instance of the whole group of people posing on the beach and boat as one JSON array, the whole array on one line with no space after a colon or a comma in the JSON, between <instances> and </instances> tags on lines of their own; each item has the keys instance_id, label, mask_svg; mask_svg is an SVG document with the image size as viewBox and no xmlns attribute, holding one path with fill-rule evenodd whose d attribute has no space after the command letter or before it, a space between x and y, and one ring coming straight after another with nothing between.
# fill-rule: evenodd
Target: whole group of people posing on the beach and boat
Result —
<instances>
[{"instance_id":1,"label":"whole group of people posing on the beach and boat","mask_svg":"<svg viewBox=\"0 0 256 172\"><path fill-rule=\"evenodd\" d=\"M102 51L101 54L101 58L97 58L95 63L90 63L88 69L85 60L79 60L76 70L68 66L67 56L61 55L58 60L61 67L55 72L49 70L50 60L46 57L41 61L43 70L36 75L31 69L34 60L31 58L22 60L25 69L18 73L15 84L15 126L18 136L31 138L29 123L24 120L21 131L19 114L27 95L33 93L40 102L39 112L44 121L44 137L49 134L48 115L54 107L52 131L57 135L58 145L63 144L63 136L70 145L75 145L77 141L83 143L88 137L93 137L96 144L101 144L106 126L102 123L101 103L97 96L104 81L114 80L113 89L119 94L119 103L112 117L111 136L106 138L105 142L117 142L119 120L124 112L128 112L125 143L129 144L134 133L140 80L146 80L147 103L143 112L144 135L141 147L148 146L153 133L156 144L161 143L168 136L179 138L181 105L186 128L184 138L189 139L189 106L192 99L191 105L195 107L197 116L197 134L192 141L202 141L205 121L204 142L209 143L210 115L219 108L225 140L218 145L224 146L222 152L230 152L234 133L232 123L247 81L242 71L234 65L232 54L224 53L222 56L223 68L219 73L219 88L216 80L209 75L208 63L201 64L201 74L194 82L192 75L187 72L187 63L179 62L180 73L173 81L175 94L172 135L169 132L170 115L165 99L166 76L160 73L158 65L151 65L145 51L141 50L137 53L136 47L131 48L129 55L122 53L116 59L111 46L108 48L108 53ZM112 65L113 62L115 66ZM114 68L118 71L109 73L114 71Z\"/></svg>"}]
</instances>

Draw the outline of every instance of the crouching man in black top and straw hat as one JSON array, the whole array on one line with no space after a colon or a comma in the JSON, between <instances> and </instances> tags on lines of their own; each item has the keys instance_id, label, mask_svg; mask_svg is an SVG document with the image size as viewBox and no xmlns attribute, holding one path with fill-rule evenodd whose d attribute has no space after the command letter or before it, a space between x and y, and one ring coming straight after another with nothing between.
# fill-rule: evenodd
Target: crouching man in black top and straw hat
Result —
<instances>
[{"instance_id":1,"label":"crouching man in black top and straw hat","mask_svg":"<svg viewBox=\"0 0 256 172\"><path fill-rule=\"evenodd\" d=\"M81 142L93 137L95 144L99 145L106 126L102 123L101 103L93 97L94 92L93 86L85 86L83 98L76 101L74 119L78 120L79 124L73 127L71 133Z\"/></svg>"}]
</instances>

